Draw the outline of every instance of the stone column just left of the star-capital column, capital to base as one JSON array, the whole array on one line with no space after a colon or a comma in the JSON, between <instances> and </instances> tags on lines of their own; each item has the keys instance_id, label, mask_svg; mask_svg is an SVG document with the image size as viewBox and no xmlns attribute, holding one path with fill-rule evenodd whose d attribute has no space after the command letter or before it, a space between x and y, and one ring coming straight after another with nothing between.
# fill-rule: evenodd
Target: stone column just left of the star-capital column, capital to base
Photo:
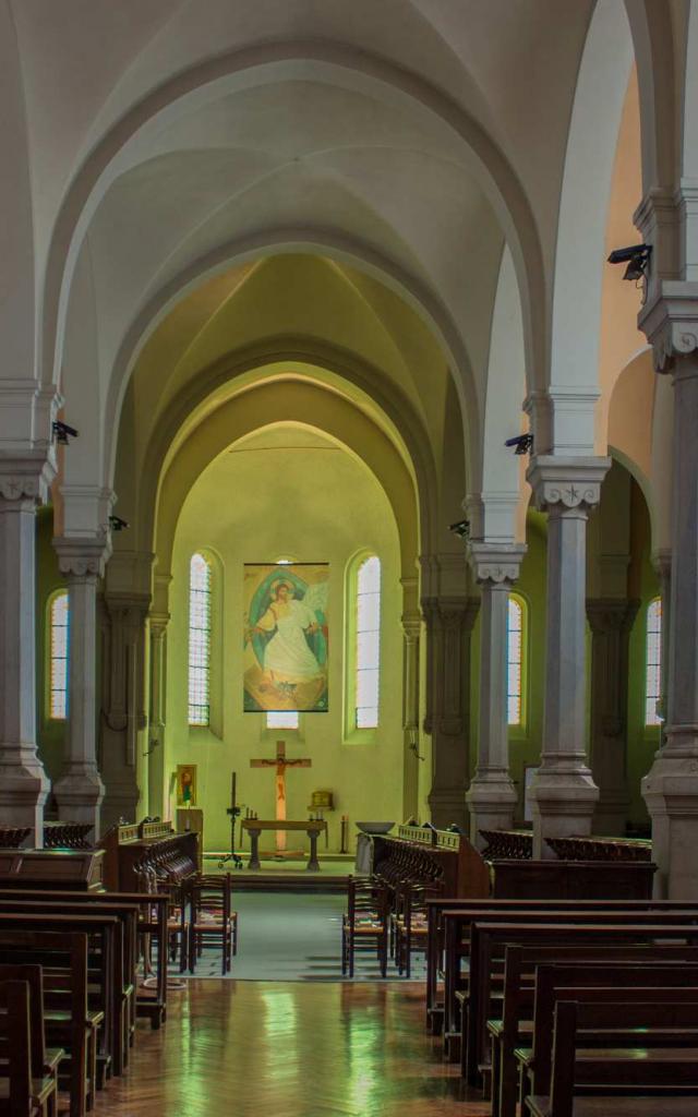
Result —
<instances>
[{"instance_id":1,"label":"stone column just left of the star-capital column, capital to base","mask_svg":"<svg viewBox=\"0 0 698 1117\"><path fill-rule=\"evenodd\" d=\"M523 545L472 541L468 554L482 592L480 603L480 725L478 764L466 800L470 840L485 846L480 830L510 830L517 795L509 776L507 631L509 591L518 577Z\"/></svg>"}]
</instances>

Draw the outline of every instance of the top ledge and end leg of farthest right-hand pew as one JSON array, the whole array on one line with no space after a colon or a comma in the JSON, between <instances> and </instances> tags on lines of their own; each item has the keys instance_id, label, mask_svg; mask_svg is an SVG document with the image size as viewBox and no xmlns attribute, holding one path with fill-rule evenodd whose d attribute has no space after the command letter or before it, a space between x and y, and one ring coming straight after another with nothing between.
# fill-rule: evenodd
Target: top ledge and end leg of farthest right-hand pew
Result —
<instances>
[{"instance_id":1,"label":"top ledge and end leg of farthest right-hand pew","mask_svg":"<svg viewBox=\"0 0 698 1117\"><path fill-rule=\"evenodd\" d=\"M433 1034L441 1031L443 1024L443 1004L439 1002L439 970L442 968L443 955L443 920L446 911L549 911L555 910L590 910L590 911L681 911L692 910L696 905L679 904L672 900L549 900L543 899L488 899L463 900L458 898L427 899L427 1029Z\"/></svg>"}]
</instances>

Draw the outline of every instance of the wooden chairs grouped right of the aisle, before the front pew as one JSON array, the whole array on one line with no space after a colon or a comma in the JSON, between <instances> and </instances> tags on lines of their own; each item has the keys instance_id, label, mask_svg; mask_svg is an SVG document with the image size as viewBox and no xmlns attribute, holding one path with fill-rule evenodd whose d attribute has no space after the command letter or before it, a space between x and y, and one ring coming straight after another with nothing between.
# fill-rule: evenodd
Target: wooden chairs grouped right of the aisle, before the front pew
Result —
<instances>
[{"instance_id":1,"label":"wooden chairs grouped right of the aisle, before the front pew","mask_svg":"<svg viewBox=\"0 0 698 1117\"><path fill-rule=\"evenodd\" d=\"M375 951L382 977L389 960L398 973L412 974L412 955L427 949L427 900L440 892L433 881L348 877L342 920L342 973L353 977L357 951Z\"/></svg>"}]
</instances>

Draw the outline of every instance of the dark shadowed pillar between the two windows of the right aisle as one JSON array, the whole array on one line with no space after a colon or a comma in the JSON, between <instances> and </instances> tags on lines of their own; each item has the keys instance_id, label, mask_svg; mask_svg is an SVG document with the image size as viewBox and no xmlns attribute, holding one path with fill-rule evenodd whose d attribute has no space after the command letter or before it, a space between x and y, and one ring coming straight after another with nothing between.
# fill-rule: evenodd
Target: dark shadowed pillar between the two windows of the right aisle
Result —
<instances>
[{"instance_id":1,"label":"dark shadowed pillar between the two windows of the right aisle","mask_svg":"<svg viewBox=\"0 0 698 1117\"><path fill-rule=\"evenodd\" d=\"M639 601L587 600L592 630L591 768L599 787L593 817L596 834L623 834L628 791L628 657Z\"/></svg>"}]
</instances>

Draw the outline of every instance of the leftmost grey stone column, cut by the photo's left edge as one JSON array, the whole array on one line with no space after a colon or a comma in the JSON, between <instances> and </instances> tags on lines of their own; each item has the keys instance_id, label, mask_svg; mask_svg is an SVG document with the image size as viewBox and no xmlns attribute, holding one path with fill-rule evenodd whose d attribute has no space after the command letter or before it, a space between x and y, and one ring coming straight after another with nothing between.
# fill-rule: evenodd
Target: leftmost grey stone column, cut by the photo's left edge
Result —
<instances>
[{"instance_id":1,"label":"leftmost grey stone column, cut by the photo's left edge","mask_svg":"<svg viewBox=\"0 0 698 1117\"><path fill-rule=\"evenodd\" d=\"M44 842L49 782L37 753L36 508L48 462L0 461L0 817Z\"/></svg>"}]
</instances>

